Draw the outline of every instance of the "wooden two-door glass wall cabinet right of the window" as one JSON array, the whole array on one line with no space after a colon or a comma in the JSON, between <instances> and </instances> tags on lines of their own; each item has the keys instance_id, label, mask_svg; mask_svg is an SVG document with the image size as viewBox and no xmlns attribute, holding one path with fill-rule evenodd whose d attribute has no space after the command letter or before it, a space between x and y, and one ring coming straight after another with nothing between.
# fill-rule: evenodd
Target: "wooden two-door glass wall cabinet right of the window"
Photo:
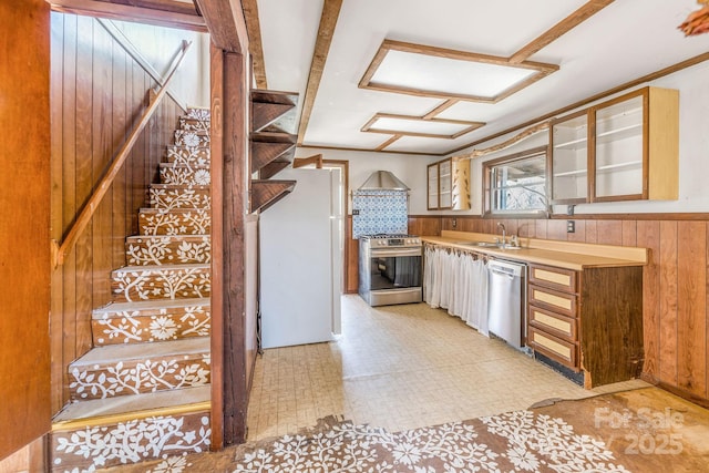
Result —
<instances>
[{"instance_id":1,"label":"wooden two-door glass wall cabinet right of the window","mask_svg":"<svg viewBox=\"0 0 709 473\"><path fill-rule=\"evenodd\" d=\"M549 126L553 204L677 199L679 92L644 88Z\"/></svg>"}]
</instances>

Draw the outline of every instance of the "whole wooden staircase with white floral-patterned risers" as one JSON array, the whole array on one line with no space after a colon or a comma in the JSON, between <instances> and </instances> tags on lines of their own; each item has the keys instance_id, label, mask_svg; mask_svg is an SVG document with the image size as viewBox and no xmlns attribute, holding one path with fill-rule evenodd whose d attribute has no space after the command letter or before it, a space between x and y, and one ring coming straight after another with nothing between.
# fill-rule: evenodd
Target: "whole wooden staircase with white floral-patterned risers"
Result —
<instances>
[{"instance_id":1,"label":"whole wooden staircase with white floral-patterned risers","mask_svg":"<svg viewBox=\"0 0 709 473\"><path fill-rule=\"evenodd\" d=\"M191 109L93 311L93 349L69 367L52 471L93 471L210 443L209 113Z\"/></svg>"}]
</instances>

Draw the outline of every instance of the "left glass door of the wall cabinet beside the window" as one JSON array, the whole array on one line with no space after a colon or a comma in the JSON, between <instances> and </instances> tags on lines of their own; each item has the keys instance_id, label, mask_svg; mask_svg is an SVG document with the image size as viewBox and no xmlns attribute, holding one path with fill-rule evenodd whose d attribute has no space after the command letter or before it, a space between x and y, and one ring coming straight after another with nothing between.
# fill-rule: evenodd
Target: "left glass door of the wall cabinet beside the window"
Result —
<instances>
[{"instance_id":1,"label":"left glass door of the wall cabinet beside the window","mask_svg":"<svg viewBox=\"0 0 709 473\"><path fill-rule=\"evenodd\" d=\"M551 193L555 204L578 204L588 198L588 113L552 122L549 128Z\"/></svg>"}]
</instances>

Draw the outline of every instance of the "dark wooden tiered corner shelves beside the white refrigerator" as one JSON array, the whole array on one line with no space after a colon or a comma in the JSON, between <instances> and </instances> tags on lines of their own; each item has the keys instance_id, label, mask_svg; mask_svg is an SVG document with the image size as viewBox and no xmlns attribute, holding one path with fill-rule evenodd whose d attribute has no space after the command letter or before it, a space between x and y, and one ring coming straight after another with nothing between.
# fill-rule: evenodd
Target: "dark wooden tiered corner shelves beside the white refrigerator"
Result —
<instances>
[{"instance_id":1,"label":"dark wooden tiered corner shelves beside the white refrigerator","mask_svg":"<svg viewBox=\"0 0 709 473\"><path fill-rule=\"evenodd\" d=\"M295 109L297 94L288 92L251 91L251 173L258 179L250 183L250 210L265 210L296 186L295 181L271 179L288 167L296 153Z\"/></svg>"}]
</instances>

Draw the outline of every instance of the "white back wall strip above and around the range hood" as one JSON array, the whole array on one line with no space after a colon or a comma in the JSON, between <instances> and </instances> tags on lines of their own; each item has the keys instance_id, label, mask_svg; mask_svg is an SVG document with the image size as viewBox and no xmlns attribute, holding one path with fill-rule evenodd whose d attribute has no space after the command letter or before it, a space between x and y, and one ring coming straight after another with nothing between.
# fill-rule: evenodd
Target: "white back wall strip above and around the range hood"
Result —
<instances>
[{"instance_id":1,"label":"white back wall strip above and around the range hood","mask_svg":"<svg viewBox=\"0 0 709 473\"><path fill-rule=\"evenodd\" d=\"M407 186L409 193L409 215L428 214L427 210L427 168L425 166L441 157L403 155L394 153L371 153L360 151L298 148L297 157L322 154L323 160L349 162L348 213L352 213L351 191L361 186L374 171L391 171Z\"/></svg>"}]
</instances>

